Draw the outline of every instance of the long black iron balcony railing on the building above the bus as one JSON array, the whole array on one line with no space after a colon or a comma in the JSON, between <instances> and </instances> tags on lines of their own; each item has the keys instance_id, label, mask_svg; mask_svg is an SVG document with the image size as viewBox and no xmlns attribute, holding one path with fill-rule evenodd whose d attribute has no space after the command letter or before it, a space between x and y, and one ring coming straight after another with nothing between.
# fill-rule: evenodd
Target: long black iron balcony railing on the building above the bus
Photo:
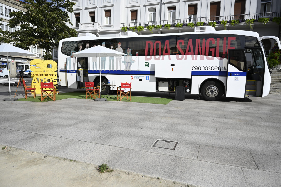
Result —
<instances>
[{"instance_id":1,"label":"long black iron balcony railing on the building above the bus","mask_svg":"<svg viewBox=\"0 0 281 187\"><path fill-rule=\"evenodd\" d=\"M217 22L220 24L221 21L227 21L228 23L231 20L238 20L240 23L246 22L247 19L254 19L254 22L257 22L259 18L269 18L269 21L272 21L274 17L280 17L281 12L269 12L269 13L257 13L257 14L241 14L241 15L232 15L232 16L215 16L215 17L197 17L197 18L186 18L186 19L174 19L174 20L160 20L160 21L147 21L147 22L134 22L134 23L121 23L122 27L138 27L143 26L147 27L149 25L164 25L170 24L172 27L177 23L183 24L183 26L187 26L188 23L196 23L201 22L203 25L208 24L209 22Z\"/></svg>"}]
</instances>

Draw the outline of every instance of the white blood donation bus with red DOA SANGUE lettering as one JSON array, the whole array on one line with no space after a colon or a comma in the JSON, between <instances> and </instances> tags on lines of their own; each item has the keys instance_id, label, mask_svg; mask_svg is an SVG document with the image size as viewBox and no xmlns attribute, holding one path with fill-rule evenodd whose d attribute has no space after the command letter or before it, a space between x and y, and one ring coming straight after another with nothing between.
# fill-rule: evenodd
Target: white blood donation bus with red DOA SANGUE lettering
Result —
<instances>
[{"instance_id":1,"label":"white blood donation bus with red DOA SANGUE lettering","mask_svg":"<svg viewBox=\"0 0 281 187\"><path fill-rule=\"evenodd\" d=\"M133 91L201 94L204 99L267 96L270 71L262 39L258 33L240 30L215 31L211 26L195 27L194 32L137 35L121 32L119 37L97 37L81 33L59 42L60 85L82 88L86 82L121 85L131 82ZM72 53L103 45L123 52L122 57L71 57ZM83 84L84 83L84 84ZM116 90L116 87L114 88ZM106 86L101 86L105 94Z\"/></svg>"}]
</instances>

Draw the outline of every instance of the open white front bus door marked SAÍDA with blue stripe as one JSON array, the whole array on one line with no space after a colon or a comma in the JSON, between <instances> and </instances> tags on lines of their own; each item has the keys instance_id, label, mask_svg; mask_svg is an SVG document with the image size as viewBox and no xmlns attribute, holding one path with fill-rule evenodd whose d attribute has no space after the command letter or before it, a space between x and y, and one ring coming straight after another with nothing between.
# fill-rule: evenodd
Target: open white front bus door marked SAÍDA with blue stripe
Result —
<instances>
[{"instance_id":1,"label":"open white front bus door marked SA\u00cdDA with blue stripe","mask_svg":"<svg viewBox=\"0 0 281 187\"><path fill-rule=\"evenodd\" d=\"M244 49L228 50L226 97L245 97L247 61Z\"/></svg>"}]
</instances>

